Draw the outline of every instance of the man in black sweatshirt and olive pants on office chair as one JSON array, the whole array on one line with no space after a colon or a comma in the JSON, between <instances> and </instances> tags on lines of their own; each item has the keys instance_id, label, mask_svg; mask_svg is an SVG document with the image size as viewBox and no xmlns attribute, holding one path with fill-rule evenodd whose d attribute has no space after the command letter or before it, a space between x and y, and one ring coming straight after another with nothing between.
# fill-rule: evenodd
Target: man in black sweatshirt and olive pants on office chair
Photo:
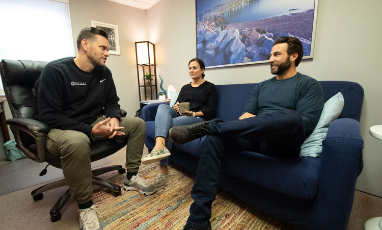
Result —
<instances>
[{"instance_id":1,"label":"man in black sweatshirt and olive pants on office chair","mask_svg":"<svg viewBox=\"0 0 382 230\"><path fill-rule=\"evenodd\" d=\"M150 195L156 188L137 174L146 126L138 117L121 117L112 73L105 66L110 56L107 34L85 28L77 37L77 48L77 57L52 61L43 68L35 84L33 118L51 127L47 149L61 157L70 194L78 203L80 229L102 229L91 199L90 138L128 138L124 189Z\"/></svg>"}]
</instances>

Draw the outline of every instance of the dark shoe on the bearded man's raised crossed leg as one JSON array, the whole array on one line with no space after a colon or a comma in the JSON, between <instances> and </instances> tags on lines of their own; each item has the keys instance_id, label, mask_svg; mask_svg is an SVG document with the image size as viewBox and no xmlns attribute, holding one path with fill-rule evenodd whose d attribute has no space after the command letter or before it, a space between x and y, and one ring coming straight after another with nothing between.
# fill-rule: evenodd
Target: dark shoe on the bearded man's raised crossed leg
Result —
<instances>
[{"instance_id":1,"label":"dark shoe on the bearded man's raised crossed leg","mask_svg":"<svg viewBox=\"0 0 382 230\"><path fill-rule=\"evenodd\" d=\"M202 139L203 136L210 134L209 122L211 121L172 127L169 131L170 139L178 144L184 144L198 138Z\"/></svg>"}]
</instances>

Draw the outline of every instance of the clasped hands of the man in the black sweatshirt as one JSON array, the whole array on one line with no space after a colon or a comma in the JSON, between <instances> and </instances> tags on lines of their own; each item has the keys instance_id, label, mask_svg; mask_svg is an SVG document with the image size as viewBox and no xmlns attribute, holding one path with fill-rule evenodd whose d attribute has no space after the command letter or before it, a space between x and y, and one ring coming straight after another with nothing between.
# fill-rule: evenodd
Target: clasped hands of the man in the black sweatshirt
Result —
<instances>
[{"instance_id":1,"label":"clasped hands of the man in the black sweatshirt","mask_svg":"<svg viewBox=\"0 0 382 230\"><path fill-rule=\"evenodd\" d=\"M124 136L125 133L120 131L122 129L124 129L124 127L119 126L119 120L117 118L108 117L105 120L100 121L93 126L91 135L108 136L110 139L115 136Z\"/></svg>"}]
</instances>

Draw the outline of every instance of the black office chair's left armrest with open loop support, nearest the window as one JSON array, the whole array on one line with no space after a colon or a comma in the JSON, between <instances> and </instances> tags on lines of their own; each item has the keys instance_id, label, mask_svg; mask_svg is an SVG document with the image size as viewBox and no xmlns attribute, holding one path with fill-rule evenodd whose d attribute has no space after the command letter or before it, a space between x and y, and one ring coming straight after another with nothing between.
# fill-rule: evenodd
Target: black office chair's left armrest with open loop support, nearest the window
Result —
<instances>
[{"instance_id":1,"label":"black office chair's left armrest with open loop support, nearest the window","mask_svg":"<svg viewBox=\"0 0 382 230\"><path fill-rule=\"evenodd\" d=\"M10 125L19 149L28 158L37 162L44 162L46 154L46 135L49 133L49 126L30 118L11 118L7 119L6 122ZM23 141L22 134L27 134L34 139L37 152L32 152L28 149Z\"/></svg>"}]
</instances>

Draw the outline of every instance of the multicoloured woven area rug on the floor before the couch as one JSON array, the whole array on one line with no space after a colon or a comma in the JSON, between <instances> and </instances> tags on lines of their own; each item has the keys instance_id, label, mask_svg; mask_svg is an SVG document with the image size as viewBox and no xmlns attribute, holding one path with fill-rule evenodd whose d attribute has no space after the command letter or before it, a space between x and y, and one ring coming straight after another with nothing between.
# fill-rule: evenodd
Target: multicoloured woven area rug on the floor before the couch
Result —
<instances>
[{"instance_id":1,"label":"multicoloured woven area rug on the floor before the couch","mask_svg":"<svg viewBox=\"0 0 382 230\"><path fill-rule=\"evenodd\" d=\"M166 184L148 196L122 189L122 195L114 197L112 192L95 186L92 199L101 205L98 217L103 229L183 229L193 202L190 191L195 175L179 166L169 165L169 170ZM157 171L154 163L142 165L139 173L153 182ZM103 177L122 187L125 175L115 172ZM295 229L221 189L212 203L210 222L212 229Z\"/></svg>"}]
</instances>

